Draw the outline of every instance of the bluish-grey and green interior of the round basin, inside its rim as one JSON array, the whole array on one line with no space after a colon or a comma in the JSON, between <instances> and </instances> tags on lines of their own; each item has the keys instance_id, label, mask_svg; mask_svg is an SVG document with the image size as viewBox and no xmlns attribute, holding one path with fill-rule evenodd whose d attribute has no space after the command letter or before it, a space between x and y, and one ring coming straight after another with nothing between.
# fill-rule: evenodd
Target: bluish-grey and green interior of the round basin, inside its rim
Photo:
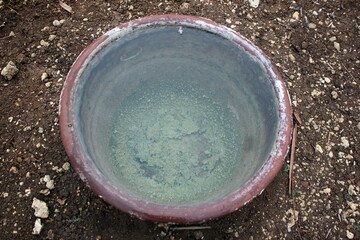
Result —
<instances>
[{"instance_id":1,"label":"bluish-grey and green interior of the round basin, inside its rim","mask_svg":"<svg viewBox=\"0 0 360 240\"><path fill-rule=\"evenodd\" d=\"M100 172L166 205L225 198L262 167L278 128L273 87L237 45L188 27L138 30L86 67L79 134Z\"/></svg>"}]
</instances>

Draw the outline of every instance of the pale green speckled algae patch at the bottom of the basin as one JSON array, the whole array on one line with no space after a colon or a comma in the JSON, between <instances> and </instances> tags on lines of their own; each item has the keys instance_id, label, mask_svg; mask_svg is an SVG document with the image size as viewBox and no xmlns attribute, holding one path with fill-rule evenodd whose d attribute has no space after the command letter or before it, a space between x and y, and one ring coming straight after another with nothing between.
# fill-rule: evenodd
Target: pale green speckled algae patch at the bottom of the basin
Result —
<instances>
[{"instance_id":1,"label":"pale green speckled algae patch at the bottom of the basin","mask_svg":"<svg viewBox=\"0 0 360 240\"><path fill-rule=\"evenodd\" d=\"M233 174L239 126L236 111L200 87L143 85L119 104L114 119L114 174L147 201L201 201Z\"/></svg>"}]
</instances>

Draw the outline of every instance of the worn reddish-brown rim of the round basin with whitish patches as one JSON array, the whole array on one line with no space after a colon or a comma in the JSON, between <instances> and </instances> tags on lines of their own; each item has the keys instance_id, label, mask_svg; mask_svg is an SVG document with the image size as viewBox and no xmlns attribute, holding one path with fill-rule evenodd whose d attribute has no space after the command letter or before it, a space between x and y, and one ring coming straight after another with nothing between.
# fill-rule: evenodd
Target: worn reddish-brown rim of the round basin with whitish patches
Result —
<instances>
[{"instance_id":1,"label":"worn reddish-brown rim of the round basin with whitish patches","mask_svg":"<svg viewBox=\"0 0 360 240\"><path fill-rule=\"evenodd\" d=\"M264 66L278 100L279 130L274 148L268 161L243 187L218 202L191 206L166 206L134 199L109 184L80 144L77 136L74 95L77 90L82 70L97 52L119 38L136 29L159 25L181 25L198 28L223 36L241 46L252 57ZM116 208L135 215L141 219L173 223L195 223L214 219L229 214L244 206L270 184L283 166L288 153L292 130L292 111L288 91L285 84L269 58L249 40L233 30L211 20L183 15L149 16L120 25L105 33L90 44L76 59L71 67L60 97L60 131L65 150L72 166L88 186L106 202Z\"/></svg>"}]
</instances>

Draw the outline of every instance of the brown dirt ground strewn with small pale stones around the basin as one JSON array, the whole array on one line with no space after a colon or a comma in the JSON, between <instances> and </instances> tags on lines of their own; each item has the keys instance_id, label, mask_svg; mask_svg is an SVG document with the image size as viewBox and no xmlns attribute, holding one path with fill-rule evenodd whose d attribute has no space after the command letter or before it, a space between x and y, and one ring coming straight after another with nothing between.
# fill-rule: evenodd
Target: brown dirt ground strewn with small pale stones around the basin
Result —
<instances>
[{"instance_id":1,"label":"brown dirt ground strewn with small pale stones around the basin","mask_svg":"<svg viewBox=\"0 0 360 240\"><path fill-rule=\"evenodd\" d=\"M10 61L18 69L0 77L1 239L360 239L360 1L65 2L73 13L58 1L0 1L0 70ZM209 229L178 230L114 209L69 167L58 101L71 64L119 23L165 13L233 28L277 65L302 121L294 196L286 163L239 211L201 225ZM33 198L49 210L39 234Z\"/></svg>"}]
</instances>

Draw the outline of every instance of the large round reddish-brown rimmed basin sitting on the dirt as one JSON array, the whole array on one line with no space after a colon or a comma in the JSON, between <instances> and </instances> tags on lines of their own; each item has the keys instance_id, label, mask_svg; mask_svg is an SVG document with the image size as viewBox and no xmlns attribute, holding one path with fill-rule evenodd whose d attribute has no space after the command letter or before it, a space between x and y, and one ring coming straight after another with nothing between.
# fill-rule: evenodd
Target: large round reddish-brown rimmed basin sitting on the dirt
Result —
<instances>
[{"instance_id":1,"label":"large round reddish-brown rimmed basin sitting on the dirt","mask_svg":"<svg viewBox=\"0 0 360 240\"><path fill-rule=\"evenodd\" d=\"M89 45L60 99L73 167L141 219L193 223L245 205L288 152L288 92L249 40L210 20L151 16Z\"/></svg>"}]
</instances>

